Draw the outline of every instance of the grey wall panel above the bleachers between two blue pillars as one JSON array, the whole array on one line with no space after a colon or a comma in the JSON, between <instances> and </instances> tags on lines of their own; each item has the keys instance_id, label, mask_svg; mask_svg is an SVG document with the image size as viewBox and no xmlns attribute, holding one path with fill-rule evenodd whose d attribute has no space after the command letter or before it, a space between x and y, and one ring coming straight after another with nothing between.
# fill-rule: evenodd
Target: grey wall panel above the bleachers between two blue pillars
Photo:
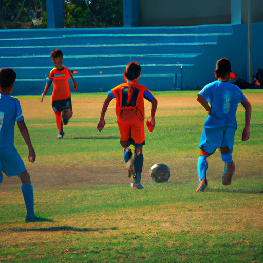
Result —
<instances>
[{"instance_id":1,"label":"grey wall panel above the bleachers between two blue pillars","mask_svg":"<svg viewBox=\"0 0 263 263\"><path fill-rule=\"evenodd\" d=\"M140 26L229 23L230 0L140 0Z\"/></svg>"}]
</instances>

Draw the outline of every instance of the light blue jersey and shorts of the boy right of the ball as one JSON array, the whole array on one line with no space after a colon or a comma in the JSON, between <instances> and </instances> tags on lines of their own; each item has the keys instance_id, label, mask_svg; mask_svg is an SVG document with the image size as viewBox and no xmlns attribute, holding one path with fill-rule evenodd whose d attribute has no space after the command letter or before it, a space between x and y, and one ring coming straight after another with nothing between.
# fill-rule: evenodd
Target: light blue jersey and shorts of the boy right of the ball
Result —
<instances>
[{"instance_id":1,"label":"light blue jersey and shorts of the boy right of the ball","mask_svg":"<svg viewBox=\"0 0 263 263\"><path fill-rule=\"evenodd\" d=\"M206 85L198 94L211 105L198 147L213 154L217 148L228 146L232 153L237 129L237 106L246 97L236 85L223 81Z\"/></svg>"}]
</instances>

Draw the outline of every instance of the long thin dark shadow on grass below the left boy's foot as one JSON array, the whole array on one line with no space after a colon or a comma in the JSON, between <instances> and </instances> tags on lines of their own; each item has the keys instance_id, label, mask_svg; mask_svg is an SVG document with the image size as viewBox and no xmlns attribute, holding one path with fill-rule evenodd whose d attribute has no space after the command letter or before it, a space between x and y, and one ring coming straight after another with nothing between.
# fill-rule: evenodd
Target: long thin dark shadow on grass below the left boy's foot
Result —
<instances>
[{"instance_id":1,"label":"long thin dark shadow on grass below the left boy's foot","mask_svg":"<svg viewBox=\"0 0 263 263\"><path fill-rule=\"evenodd\" d=\"M15 232L26 232L26 231L76 231L76 232L89 232L89 231L103 231L103 230L117 230L117 227L114 228L74 228L70 226L61 226L61 227L48 227L48 228L14 228L11 231Z\"/></svg>"}]
</instances>

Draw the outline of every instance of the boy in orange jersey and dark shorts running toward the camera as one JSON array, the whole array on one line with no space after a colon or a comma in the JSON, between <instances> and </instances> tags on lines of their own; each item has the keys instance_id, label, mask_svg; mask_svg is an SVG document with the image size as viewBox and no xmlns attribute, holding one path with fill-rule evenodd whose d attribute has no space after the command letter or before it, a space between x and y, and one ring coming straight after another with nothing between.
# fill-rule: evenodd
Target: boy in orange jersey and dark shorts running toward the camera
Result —
<instances>
[{"instance_id":1,"label":"boy in orange jersey and dark shorts running toward the camera","mask_svg":"<svg viewBox=\"0 0 263 263\"><path fill-rule=\"evenodd\" d=\"M42 94L42 100L45 97L49 87L53 82L53 92L52 92L52 109L55 112L55 120L57 127L59 129L58 139L62 139L64 136L63 124L67 125L69 119L73 115L71 96L69 89L69 78L71 77L74 82L74 90L77 91L77 83L72 75L72 72L63 66L63 53L55 49L51 53L51 59L55 67L50 71L47 78L47 84L45 90ZM63 120L63 122L62 122Z\"/></svg>"}]
</instances>

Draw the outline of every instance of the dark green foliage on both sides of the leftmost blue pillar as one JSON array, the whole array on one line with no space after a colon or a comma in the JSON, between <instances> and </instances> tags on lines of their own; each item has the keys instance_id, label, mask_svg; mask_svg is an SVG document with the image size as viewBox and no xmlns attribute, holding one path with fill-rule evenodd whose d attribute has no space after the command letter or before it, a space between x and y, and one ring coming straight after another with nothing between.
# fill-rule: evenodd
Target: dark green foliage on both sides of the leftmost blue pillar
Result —
<instances>
[{"instance_id":1,"label":"dark green foliage on both sides of the leftmost blue pillar","mask_svg":"<svg viewBox=\"0 0 263 263\"><path fill-rule=\"evenodd\" d=\"M40 25L32 23L31 11ZM121 0L72 0L64 2L65 27L122 27L123 8ZM0 29L46 28L46 1L0 0Z\"/></svg>"}]
</instances>

